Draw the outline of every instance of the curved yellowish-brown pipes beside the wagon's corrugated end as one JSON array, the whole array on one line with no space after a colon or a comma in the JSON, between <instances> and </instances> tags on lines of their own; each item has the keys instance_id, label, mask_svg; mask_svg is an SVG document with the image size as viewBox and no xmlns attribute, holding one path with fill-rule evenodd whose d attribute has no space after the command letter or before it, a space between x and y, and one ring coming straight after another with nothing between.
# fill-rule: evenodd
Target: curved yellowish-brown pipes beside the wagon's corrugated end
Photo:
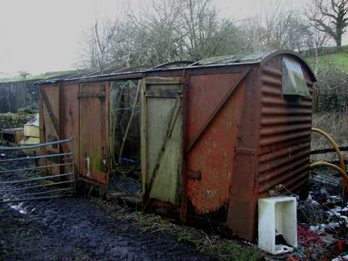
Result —
<instances>
[{"instance_id":1,"label":"curved yellowish-brown pipes beside the wagon's corrugated end","mask_svg":"<svg viewBox=\"0 0 348 261\"><path fill-rule=\"evenodd\" d=\"M345 161L343 159L343 155L342 155L342 152L340 151L340 148L338 148L338 145L335 143L335 141L333 141L331 136L327 134L326 132L324 132L322 129L312 128L312 132L317 132L319 134L322 134L326 139L329 140L329 142L331 143L331 145L333 145L333 148L335 149L335 152L338 155L338 160L340 161L340 167L334 164L331 164L329 162L318 161L313 164L310 164L310 168L313 169L320 166L327 166L327 167L334 168L336 171L338 171L342 175L343 193L346 196L348 196L348 175L346 173Z\"/></svg>"}]
</instances>

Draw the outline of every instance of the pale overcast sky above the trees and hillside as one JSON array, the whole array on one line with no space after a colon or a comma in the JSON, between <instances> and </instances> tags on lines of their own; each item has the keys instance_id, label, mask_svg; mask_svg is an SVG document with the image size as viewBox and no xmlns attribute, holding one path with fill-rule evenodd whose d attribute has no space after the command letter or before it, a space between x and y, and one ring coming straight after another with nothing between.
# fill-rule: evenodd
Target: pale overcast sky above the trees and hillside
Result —
<instances>
[{"instance_id":1,"label":"pale overcast sky above the trees and hillside","mask_svg":"<svg viewBox=\"0 0 348 261\"><path fill-rule=\"evenodd\" d=\"M81 32L95 17L112 17L126 1L135 10L151 0L3 0L0 3L0 72L38 74L74 69ZM260 13L274 0L213 0L222 17ZM276 0L277 1L277 0ZM278 0L301 10L306 0ZM123 5L124 6L124 5ZM348 43L347 35L344 44ZM1 77L8 77L0 74Z\"/></svg>"}]
</instances>

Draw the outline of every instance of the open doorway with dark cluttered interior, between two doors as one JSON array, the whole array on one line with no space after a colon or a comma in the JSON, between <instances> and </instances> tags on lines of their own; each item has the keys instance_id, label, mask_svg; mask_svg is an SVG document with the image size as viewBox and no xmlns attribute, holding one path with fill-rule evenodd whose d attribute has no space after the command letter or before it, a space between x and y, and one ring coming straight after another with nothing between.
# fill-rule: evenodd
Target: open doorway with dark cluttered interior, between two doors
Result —
<instances>
[{"instance_id":1,"label":"open doorway with dark cluttered interior, between two doors","mask_svg":"<svg viewBox=\"0 0 348 261\"><path fill-rule=\"evenodd\" d=\"M139 79L111 82L108 195L116 199L141 195L140 91Z\"/></svg>"}]
</instances>

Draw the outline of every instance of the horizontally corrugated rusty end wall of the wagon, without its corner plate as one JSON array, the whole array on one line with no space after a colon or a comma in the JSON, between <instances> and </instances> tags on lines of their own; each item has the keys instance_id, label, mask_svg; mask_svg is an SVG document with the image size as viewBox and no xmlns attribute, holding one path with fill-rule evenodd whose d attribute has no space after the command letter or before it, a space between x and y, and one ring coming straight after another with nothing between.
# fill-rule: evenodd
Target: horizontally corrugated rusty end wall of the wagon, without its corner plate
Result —
<instances>
[{"instance_id":1,"label":"horizontally corrugated rusty end wall of the wagon, without its corner plate","mask_svg":"<svg viewBox=\"0 0 348 261\"><path fill-rule=\"evenodd\" d=\"M304 68L303 74L310 97L287 102L282 95L282 57L261 68L258 197L269 190L299 192L308 181L313 83Z\"/></svg>"}]
</instances>

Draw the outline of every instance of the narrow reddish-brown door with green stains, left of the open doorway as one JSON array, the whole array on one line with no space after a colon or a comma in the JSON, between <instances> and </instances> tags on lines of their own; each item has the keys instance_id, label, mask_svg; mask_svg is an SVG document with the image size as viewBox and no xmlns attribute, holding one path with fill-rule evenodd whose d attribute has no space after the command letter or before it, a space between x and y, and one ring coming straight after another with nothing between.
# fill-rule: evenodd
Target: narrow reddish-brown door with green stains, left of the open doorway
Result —
<instances>
[{"instance_id":1,"label":"narrow reddish-brown door with green stains, left of the open doorway","mask_svg":"<svg viewBox=\"0 0 348 261\"><path fill-rule=\"evenodd\" d=\"M105 82L80 84L79 174L85 180L109 183L109 85Z\"/></svg>"}]
</instances>

